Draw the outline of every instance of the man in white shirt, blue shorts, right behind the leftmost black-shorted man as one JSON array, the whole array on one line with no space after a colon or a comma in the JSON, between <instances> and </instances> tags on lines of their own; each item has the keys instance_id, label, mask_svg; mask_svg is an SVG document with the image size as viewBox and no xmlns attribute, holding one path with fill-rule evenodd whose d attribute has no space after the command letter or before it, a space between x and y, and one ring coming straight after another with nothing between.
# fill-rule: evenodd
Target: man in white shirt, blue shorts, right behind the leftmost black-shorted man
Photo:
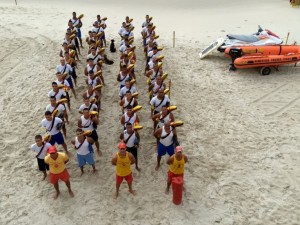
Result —
<instances>
[{"instance_id":1,"label":"man in white shirt, blue shorts, right behind the leftmost black-shorted man","mask_svg":"<svg viewBox=\"0 0 300 225\"><path fill-rule=\"evenodd\" d=\"M63 121L58 117L53 117L50 111L45 112L45 119L41 122L42 127L46 128L47 134L51 135L49 143L54 145L55 143L62 145L66 154L69 154L64 137L60 132Z\"/></svg>"}]
</instances>

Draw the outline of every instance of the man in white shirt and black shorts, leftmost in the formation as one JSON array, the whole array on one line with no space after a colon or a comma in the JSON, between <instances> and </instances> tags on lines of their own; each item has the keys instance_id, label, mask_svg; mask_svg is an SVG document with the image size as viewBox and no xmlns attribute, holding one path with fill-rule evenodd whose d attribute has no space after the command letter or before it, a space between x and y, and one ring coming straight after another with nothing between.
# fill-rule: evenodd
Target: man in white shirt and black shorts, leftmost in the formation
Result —
<instances>
[{"instance_id":1,"label":"man in white shirt and black shorts, leftmost in the formation","mask_svg":"<svg viewBox=\"0 0 300 225\"><path fill-rule=\"evenodd\" d=\"M35 136L35 144L31 145L32 151L36 153L36 159L39 166L39 170L43 172L44 176L42 180L45 180L47 177L47 170L49 170L49 165L45 164L45 156L47 154L48 149L52 146L48 142L43 141L41 135Z\"/></svg>"}]
</instances>

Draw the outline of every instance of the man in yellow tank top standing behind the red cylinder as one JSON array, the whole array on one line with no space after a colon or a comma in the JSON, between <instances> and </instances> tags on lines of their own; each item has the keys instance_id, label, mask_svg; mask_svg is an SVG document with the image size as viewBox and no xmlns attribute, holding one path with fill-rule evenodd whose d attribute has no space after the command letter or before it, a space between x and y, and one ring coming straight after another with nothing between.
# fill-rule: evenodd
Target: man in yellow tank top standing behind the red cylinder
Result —
<instances>
[{"instance_id":1,"label":"man in yellow tank top standing behind the red cylinder","mask_svg":"<svg viewBox=\"0 0 300 225\"><path fill-rule=\"evenodd\" d=\"M165 191L166 194L169 193L173 177L183 178L184 165L185 163L187 163L187 161L188 161L187 156L182 153L182 147L177 146L175 149L175 154L169 157L169 159L167 160L167 164L169 165L169 171L168 171L167 188Z\"/></svg>"}]
</instances>

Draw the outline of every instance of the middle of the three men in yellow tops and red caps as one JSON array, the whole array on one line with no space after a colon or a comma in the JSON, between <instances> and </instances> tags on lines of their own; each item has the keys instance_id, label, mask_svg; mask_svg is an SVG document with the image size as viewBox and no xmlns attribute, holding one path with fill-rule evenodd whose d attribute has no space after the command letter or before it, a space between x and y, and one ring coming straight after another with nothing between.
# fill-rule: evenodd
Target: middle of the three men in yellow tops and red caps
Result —
<instances>
[{"instance_id":1,"label":"middle of the three men in yellow tops and red caps","mask_svg":"<svg viewBox=\"0 0 300 225\"><path fill-rule=\"evenodd\" d=\"M132 172L131 165L135 163L134 156L126 151L126 144L121 142L118 145L119 151L114 155L111 160L112 165L116 166L116 194L115 197L119 196L120 185L123 179L127 181L129 192L136 195L136 191L132 189Z\"/></svg>"}]
</instances>

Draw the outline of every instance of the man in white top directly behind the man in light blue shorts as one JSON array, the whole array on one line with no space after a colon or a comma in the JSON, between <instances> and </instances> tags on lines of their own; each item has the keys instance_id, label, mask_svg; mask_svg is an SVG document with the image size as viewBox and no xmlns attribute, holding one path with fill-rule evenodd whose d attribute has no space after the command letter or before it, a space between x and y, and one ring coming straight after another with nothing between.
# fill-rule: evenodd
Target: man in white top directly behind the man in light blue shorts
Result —
<instances>
[{"instance_id":1,"label":"man in white top directly behind the man in light blue shorts","mask_svg":"<svg viewBox=\"0 0 300 225\"><path fill-rule=\"evenodd\" d=\"M100 151L100 144L98 141L98 134L97 134L97 125L99 125L99 119L97 115L91 115L88 108L83 109L83 115L77 121L78 128L81 128L83 131L90 130L92 131L90 137L94 140L97 153L99 156L102 155Z\"/></svg>"}]
</instances>

